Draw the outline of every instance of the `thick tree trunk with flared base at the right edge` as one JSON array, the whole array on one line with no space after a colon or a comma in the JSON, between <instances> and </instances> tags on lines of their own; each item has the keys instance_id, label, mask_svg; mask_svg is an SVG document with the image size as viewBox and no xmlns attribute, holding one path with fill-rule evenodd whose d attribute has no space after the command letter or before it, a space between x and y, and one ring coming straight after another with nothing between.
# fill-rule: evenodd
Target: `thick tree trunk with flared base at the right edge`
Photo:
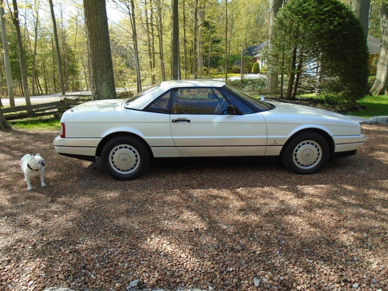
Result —
<instances>
[{"instance_id":1,"label":"thick tree trunk with flared base at the right edge","mask_svg":"<svg viewBox=\"0 0 388 291\"><path fill-rule=\"evenodd\" d=\"M388 4L381 1L381 45L376 68L376 79L371 88L374 95L384 94L388 86Z\"/></svg>"}]
</instances>

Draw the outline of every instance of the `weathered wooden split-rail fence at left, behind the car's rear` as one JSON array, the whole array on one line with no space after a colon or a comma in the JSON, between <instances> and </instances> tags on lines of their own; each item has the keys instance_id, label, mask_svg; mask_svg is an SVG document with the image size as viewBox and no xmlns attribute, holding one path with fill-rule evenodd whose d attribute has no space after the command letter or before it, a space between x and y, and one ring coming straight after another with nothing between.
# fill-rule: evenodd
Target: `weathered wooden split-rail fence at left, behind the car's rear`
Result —
<instances>
[{"instance_id":1,"label":"weathered wooden split-rail fence at left, behind the car's rear","mask_svg":"<svg viewBox=\"0 0 388 291\"><path fill-rule=\"evenodd\" d=\"M129 98L130 96L132 96L130 92L120 92L117 94L117 98L123 99ZM1 111L7 121L28 119L49 120L59 118L71 107L91 100L90 95L66 95L61 101L7 107L2 108Z\"/></svg>"}]
</instances>

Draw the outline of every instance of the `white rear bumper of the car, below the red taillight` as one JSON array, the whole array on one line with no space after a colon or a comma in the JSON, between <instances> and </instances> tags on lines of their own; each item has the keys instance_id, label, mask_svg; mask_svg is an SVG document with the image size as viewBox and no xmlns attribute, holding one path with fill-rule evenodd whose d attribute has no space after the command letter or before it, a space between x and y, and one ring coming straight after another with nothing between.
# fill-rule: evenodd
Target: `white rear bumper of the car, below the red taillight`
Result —
<instances>
[{"instance_id":1,"label":"white rear bumper of the car, below the red taillight","mask_svg":"<svg viewBox=\"0 0 388 291\"><path fill-rule=\"evenodd\" d=\"M94 160L97 146L101 139L72 139L62 138L59 135L54 139L54 148L63 156L78 159ZM84 158L81 158L83 156ZM86 157L86 158L85 158ZM92 157L92 158L90 158Z\"/></svg>"}]
</instances>

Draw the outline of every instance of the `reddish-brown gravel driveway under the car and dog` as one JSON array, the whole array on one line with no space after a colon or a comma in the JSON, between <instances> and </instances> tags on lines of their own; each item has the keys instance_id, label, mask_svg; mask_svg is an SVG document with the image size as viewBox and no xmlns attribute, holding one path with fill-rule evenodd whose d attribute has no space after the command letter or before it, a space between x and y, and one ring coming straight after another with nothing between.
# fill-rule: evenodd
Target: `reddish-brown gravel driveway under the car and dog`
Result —
<instances>
[{"instance_id":1,"label":"reddish-brown gravel driveway under the car and dog","mask_svg":"<svg viewBox=\"0 0 388 291\"><path fill-rule=\"evenodd\" d=\"M160 159L120 182L56 154L57 132L0 132L0 290L388 290L388 126L363 133L314 175ZM47 187L27 191L19 159L36 152Z\"/></svg>"}]
</instances>

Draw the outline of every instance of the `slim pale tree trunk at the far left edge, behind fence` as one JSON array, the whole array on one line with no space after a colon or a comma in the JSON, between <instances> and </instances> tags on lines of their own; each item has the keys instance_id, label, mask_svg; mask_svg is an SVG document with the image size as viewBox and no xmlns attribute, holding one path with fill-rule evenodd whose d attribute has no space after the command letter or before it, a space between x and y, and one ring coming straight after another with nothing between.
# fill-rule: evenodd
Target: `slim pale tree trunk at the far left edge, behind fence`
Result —
<instances>
[{"instance_id":1,"label":"slim pale tree trunk at the far left edge, behind fence","mask_svg":"<svg viewBox=\"0 0 388 291\"><path fill-rule=\"evenodd\" d=\"M0 25L1 25L1 36L2 36L3 53L4 53L4 68L5 68L5 78L7 79L9 106L14 107L15 106L14 83L12 81L11 66L9 62L7 30L5 28L4 8L3 8L2 0L0 1Z\"/></svg>"}]
</instances>

